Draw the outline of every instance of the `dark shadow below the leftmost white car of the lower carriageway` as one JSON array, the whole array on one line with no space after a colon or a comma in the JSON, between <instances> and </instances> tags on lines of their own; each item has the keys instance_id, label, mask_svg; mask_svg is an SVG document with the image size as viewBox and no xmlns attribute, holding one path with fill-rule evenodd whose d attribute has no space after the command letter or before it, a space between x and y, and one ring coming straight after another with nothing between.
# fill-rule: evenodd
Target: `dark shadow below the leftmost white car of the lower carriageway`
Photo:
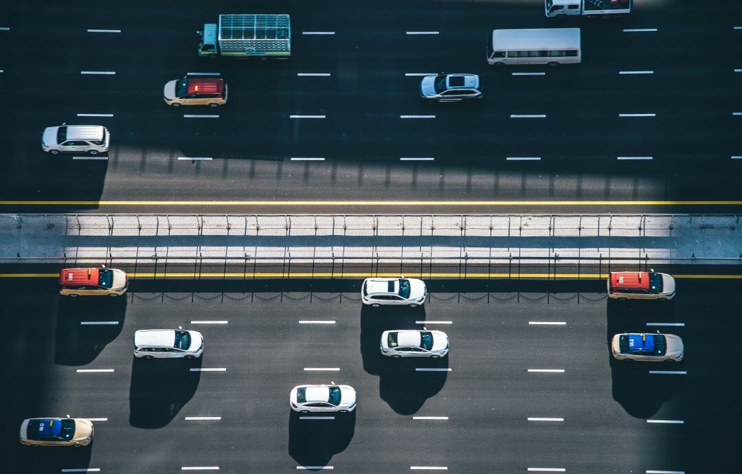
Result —
<instances>
[{"instance_id":1,"label":"dark shadow below the leftmost white car of the lower carriageway","mask_svg":"<svg viewBox=\"0 0 742 474\"><path fill-rule=\"evenodd\" d=\"M129 424L137 428L162 428L196 393L201 358L133 358L129 389Z\"/></svg>"}]
</instances>

